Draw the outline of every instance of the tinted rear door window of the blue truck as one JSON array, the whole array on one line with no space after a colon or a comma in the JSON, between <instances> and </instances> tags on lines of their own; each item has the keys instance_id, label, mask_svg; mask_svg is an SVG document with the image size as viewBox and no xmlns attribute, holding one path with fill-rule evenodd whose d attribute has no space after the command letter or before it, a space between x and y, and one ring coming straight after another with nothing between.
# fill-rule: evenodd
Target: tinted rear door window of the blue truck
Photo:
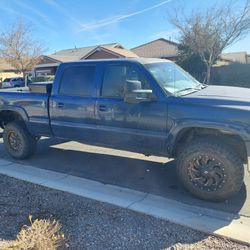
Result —
<instances>
[{"instance_id":1,"label":"tinted rear door window of the blue truck","mask_svg":"<svg viewBox=\"0 0 250 250\"><path fill-rule=\"evenodd\" d=\"M95 66L72 66L66 68L59 88L59 94L91 96L95 79Z\"/></svg>"}]
</instances>

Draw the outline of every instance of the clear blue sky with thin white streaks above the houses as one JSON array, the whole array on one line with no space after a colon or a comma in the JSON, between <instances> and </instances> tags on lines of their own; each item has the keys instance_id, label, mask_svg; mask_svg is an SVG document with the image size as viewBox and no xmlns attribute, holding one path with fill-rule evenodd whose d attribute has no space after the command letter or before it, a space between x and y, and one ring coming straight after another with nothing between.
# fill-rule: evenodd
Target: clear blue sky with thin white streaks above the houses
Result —
<instances>
[{"instance_id":1,"label":"clear blue sky with thin white streaks above the houses","mask_svg":"<svg viewBox=\"0 0 250 250\"><path fill-rule=\"evenodd\" d=\"M156 38L177 40L167 12L203 10L227 0L0 0L0 28L18 19L33 24L34 36L56 50L118 42L131 48ZM236 7L244 0L235 0ZM227 51L248 51L250 34Z\"/></svg>"}]
</instances>

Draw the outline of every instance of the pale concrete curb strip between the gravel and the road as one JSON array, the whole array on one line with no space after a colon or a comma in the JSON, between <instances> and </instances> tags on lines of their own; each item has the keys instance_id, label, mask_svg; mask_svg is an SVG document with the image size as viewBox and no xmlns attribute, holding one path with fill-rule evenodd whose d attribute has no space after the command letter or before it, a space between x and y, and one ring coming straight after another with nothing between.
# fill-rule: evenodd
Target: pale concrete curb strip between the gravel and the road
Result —
<instances>
[{"instance_id":1,"label":"pale concrete curb strip between the gravel and the road","mask_svg":"<svg viewBox=\"0 0 250 250\"><path fill-rule=\"evenodd\" d=\"M201 232L250 245L250 218L187 205L128 188L103 184L77 176L0 160L0 174L19 180L107 202L165 219Z\"/></svg>"}]
</instances>

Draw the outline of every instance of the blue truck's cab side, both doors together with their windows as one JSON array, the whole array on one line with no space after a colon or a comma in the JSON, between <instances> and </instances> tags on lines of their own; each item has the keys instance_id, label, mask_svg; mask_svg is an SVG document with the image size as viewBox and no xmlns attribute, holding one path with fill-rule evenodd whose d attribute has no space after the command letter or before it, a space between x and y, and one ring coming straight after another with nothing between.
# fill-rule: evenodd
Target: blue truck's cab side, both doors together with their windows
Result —
<instances>
[{"instance_id":1,"label":"blue truck's cab side, both doors together with their windows","mask_svg":"<svg viewBox=\"0 0 250 250\"><path fill-rule=\"evenodd\" d=\"M57 76L50 97L54 136L166 154L167 103L143 65L129 60L69 63ZM132 100L125 90L136 84L141 93Z\"/></svg>"}]
</instances>

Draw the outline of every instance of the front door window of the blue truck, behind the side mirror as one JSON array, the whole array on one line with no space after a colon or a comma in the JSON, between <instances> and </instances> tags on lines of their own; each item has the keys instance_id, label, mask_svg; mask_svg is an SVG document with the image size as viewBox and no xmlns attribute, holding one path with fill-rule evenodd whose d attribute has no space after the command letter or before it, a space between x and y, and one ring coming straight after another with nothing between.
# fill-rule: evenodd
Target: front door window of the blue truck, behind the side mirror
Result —
<instances>
[{"instance_id":1,"label":"front door window of the blue truck, behind the side mirror","mask_svg":"<svg viewBox=\"0 0 250 250\"><path fill-rule=\"evenodd\" d=\"M124 97L124 86L128 80L140 81L142 89L150 89L145 78L133 67L110 65L104 73L101 95L103 97Z\"/></svg>"}]
</instances>

